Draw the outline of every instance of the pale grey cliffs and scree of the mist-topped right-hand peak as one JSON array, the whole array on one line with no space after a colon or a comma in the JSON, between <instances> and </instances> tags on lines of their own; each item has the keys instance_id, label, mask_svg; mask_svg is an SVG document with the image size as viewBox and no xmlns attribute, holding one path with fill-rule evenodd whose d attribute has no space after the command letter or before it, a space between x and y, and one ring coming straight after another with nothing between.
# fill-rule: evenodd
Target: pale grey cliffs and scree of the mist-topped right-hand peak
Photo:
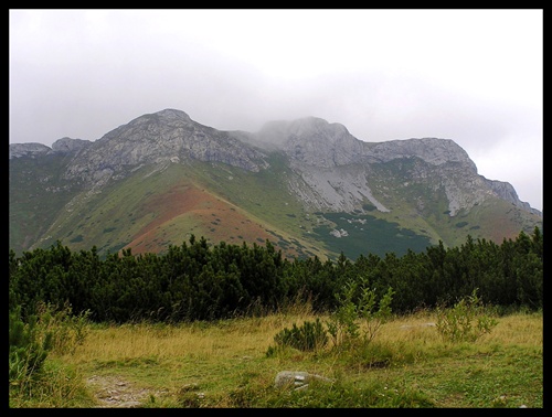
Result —
<instances>
[{"instance_id":1,"label":"pale grey cliffs and scree of the mist-topped right-hand peak","mask_svg":"<svg viewBox=\"0 0 552 417\"><path fill-rule=\"evenodd\" d=\"M518 199L511 184L478 175L477 167L466 151L449 139L368 143L350 135L344 126L315 117L266 124L255 139L276 145L286 152L304 182L295 182L290 188L315 210L350 212L368 200L379 211L389 212L370 188L373 175L370 167L393 160L420 159L424 163L408 173L410 180L421 183L427 182L431 175L439 178L438 186L447 195L450 216L460 210L470 210L489 195L539 213ZM352 171L342 169L346 165L357 168Z\"/></svg>"}]
</instances>

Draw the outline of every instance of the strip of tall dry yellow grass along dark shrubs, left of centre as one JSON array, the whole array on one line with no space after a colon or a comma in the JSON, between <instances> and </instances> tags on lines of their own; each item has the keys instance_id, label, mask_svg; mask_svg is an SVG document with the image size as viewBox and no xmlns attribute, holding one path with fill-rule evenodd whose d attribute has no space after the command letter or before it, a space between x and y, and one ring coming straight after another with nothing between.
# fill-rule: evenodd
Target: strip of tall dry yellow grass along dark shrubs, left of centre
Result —
<instances>
[{"instance_id":1,"label":"strip of tall dry yellow grass along dark shrubs, left of centre","mask_svg":"<svg viewBox=\"0 0 552 417\"><path fill-rule=\"evenodd\" d=\"M314 320L315 316L307 304L279 314L213 323L138 323L94 328L71 361L128 361L148 356L159 360L214 356L220 360L264 355L268 346L274 344L274 335L282 329Z\"/></svg>"}]
</instances>

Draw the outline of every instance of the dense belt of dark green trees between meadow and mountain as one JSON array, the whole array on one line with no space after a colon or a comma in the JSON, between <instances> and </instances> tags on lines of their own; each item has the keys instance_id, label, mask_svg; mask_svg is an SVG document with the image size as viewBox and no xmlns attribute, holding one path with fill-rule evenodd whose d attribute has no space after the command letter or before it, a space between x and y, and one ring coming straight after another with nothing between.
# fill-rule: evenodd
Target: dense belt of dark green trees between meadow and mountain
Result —
<instances>
[{"instance_id":1,"label":"dense belt of dark green trees between meadow and mountain","mask_svg":"<svg viewBox=\"0 0 552 417\"><path fill-rule=\"evenodd\" d=\"M70 304L96 322L219 320L270 313L309 301L317 312L337 308L347 282L368 280L379 297L392 288L394 313L452 306L475 289L486 303L542 309L543 235L535 227L496 244L467 236L465 244L380 257L336 260L286 258L265 245L210 245L192 235L164 254L131 249L99 257L97 248L72 252L60 240L21 256L10 249L10 311L35 313L39 302Z\"/></svg>"}]
</instances>

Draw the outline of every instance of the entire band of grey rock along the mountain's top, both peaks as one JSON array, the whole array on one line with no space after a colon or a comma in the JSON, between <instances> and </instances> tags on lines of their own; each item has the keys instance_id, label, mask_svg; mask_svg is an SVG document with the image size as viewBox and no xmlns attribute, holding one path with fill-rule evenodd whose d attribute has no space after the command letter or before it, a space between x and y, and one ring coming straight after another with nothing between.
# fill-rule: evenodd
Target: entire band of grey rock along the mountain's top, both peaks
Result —
<instances>
[{"instance_id":1,"label":"entire band of grey rock along the mountain's top, both peaks","mask_svg":"<svg viewBox=\"0 0 552 417\"><path fill-rule=\"evenodd\" d=\"M78 178L97 186L127 170L164 162L214 161L258 172L268 167L268 153L280 150L297 177L289 189L315 210L350 212L369 201L389 212L371 189L371 167L394 160L418 159L423 163L408 172L410 181L426 182L437 177L448 199L450 216L470 210L489 195L517 207L541 214L518 199L507 182L477 174L464 149L449 139L422 138L363 142L340 124L308 117L293 121L270 121L258 132L221 131L193 121L184 111L164 109L123 125L95 142L63 138L52 149L41 143L10 145L10 159L40 157L50 152L74 154L65 179Z\"/></svg>"}]
</instances>

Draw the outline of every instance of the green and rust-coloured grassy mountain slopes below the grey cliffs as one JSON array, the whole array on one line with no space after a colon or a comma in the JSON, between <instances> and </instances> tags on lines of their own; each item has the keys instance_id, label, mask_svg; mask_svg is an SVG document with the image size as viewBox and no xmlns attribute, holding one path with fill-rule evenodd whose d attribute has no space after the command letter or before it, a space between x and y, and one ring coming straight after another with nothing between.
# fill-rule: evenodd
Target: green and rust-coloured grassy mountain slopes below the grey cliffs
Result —
<instances>
[{"instance_id":1,"label":"green and rust-coloured grassy mountain slopes below the grey cliffs","mask_svg":"<svg viewBox=\"0 0 552 417\"><path fill-rule=\"evenodd\" d=\"M343 252L354 259L423 252L439 240L458 246L468 234L501 243L542 227L542 218L500 199L450 216L438 175L412 181L420 168L414 159L370 165L369 186L390 212L367 200L353 213L307 207L288 189L296 173L286 157L274 152L268 162L259 172L193 160L148 165L99 191L82 191L61 179L60 156L10 160L10 247L47 248L59 239L75 250L96 246L100 255L162 253L194 234L215 244L268 239L288 256L336 258Z\"/></svg>"}]
</instances>

